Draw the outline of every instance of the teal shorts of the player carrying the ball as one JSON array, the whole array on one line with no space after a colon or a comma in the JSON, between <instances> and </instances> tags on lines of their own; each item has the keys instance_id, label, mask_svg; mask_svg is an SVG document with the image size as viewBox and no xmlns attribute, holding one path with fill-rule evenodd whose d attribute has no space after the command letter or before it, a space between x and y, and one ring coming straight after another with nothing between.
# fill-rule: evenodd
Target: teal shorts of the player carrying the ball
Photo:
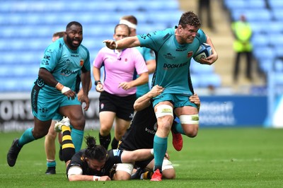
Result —
<instances>
[{"instance_id":1,"label":"teal shorts of the player carrying the ball","mask_svg":"<svg viewBox=\"0 0 283 188\"><path fill-rule=\"evenodd\" d=\"M169 101L175 107L185 107L192 106L197 107L195 103L190 102L190 95L180 95L180 94L171 94L171 93L161 93L161 95L156 96L154 98L153 105L157 105L159 102Z\"/></svg>"}]
</instances>

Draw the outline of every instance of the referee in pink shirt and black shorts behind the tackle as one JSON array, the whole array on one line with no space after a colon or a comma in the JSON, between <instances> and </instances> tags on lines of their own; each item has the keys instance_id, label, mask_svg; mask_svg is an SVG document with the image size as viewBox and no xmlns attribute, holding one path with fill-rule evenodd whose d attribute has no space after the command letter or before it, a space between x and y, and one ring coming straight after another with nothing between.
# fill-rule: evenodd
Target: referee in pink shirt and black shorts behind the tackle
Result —
<instances>
[{"instance_id":1,"label":"referee in pink shirt and black shorts behind the tackle","mask_svg":"<svg viewBox=\"0 0 283 188\"><path fill-rule=\"evenodd\" d=\"M125 24L115 26L115 41L129 37L130 29ZM104 66L103 81L100 69ZM137 78L137 74L139 77ZM99 141L108 149L110 131L115 120L115 136L111 147L117 148L118 141L125 134L134 115L136 86L149 81L149 73L144 58L136 48L109 49L103 47L93 61L93 77L99 97Z\"/></svg>"}]
</instances>

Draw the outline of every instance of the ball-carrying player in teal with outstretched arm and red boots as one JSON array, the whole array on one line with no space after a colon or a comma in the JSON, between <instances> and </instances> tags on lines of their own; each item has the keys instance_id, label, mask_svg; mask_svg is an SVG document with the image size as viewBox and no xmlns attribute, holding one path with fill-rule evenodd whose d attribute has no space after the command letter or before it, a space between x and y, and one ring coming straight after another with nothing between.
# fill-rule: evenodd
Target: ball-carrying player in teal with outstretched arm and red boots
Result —
<instances>
[{"instance_id":1,"label":"ball-carrying player in teal with outstretched arm and red boots","mask_svg":"<svg viewBox=\"0 0 283 188\"><path fill-rule=\"evenodd\" d=\"M128 47L149 47L156 54L156 71L153 86L165 88L161 95L154 98L158 129L154 136L154 175L152 181L161 181L163 156L167 150L168 134L173 123L173 110L180 119L180 127L187 136L197 136L199 116L197 105L189 100L192 95L190 79L190 60L198 47L206 42L212 47L213 54L202 59L201 64L213 64L218 54L208 35L200 29L200 20L192 11L183 13L178 26L149 34L127 37L120 41L105 40L110 49ZM176 127L176 130L180 129Z\"/></svg>"}]
</instances>

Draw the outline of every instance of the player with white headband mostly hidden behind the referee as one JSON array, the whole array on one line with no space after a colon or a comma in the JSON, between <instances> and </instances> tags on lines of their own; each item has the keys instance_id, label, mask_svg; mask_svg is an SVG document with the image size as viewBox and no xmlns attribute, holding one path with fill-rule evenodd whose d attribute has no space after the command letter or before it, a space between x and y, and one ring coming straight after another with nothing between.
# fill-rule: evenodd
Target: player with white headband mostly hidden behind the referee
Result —
<instances>
[{"instance_id":1,"label":"player with white headband mostly hidden behind the referee","mask_svg":"<svg viewBox=\"0 0 283 188\"><path fill-rule=\"evenodd\" d=\"M129 16L122 16L120 18L120 23L126 24L129 26L131 33L129 34L130 37L137 35L137 18L129 15ZM146 61L146 68L149 70L149 83L146 83L141 86L137 86L137 98L141 97L141 95L144 95L149 92L151 88L151 77L152 74L155 71L156 67L156 60L155 60L155 54L152 49L149 49L147 47L137 47L139 49L139 52L141 52L142 57L144 57L144 61Z\"/></svg>"}]
</instances>

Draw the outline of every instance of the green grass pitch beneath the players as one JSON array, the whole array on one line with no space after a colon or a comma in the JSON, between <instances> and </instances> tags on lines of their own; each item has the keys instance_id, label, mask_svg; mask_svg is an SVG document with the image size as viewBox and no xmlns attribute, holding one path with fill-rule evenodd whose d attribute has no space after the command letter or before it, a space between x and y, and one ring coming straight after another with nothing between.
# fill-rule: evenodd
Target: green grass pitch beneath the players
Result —
<instances>
[{"instance_id":1,"label":"green grass pitch beneath the players","mask_svg":"<svg viewBox=\"0 0 283 188\"><path fill-rule=\"evenodd\" d=\"M85 133L98 136L98 131ZM200 128L194 139L183 136L179 152L170 136L168 153L177 177L162 182L68 182L58 155L57 175L45 175L44 139L25 145L10 168L6 154L21 134L0 133L0 187L283 187L283 129Z\"/></svg>"}]
</instances>

